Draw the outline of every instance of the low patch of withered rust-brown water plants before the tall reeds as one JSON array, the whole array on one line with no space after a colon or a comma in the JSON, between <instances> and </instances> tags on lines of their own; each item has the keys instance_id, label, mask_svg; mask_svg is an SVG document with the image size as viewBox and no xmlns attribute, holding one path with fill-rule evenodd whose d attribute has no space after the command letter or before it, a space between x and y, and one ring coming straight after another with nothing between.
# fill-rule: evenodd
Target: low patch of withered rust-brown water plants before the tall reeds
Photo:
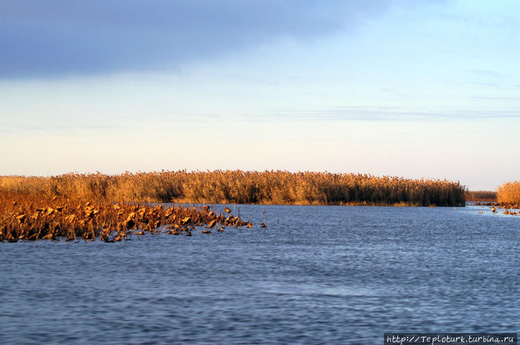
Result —
<instances>
[{"instance_id":1,"label":"low patch of withered rust-brown water plants before the tall reeds","mask_svg":"<svg viewBox=\"0 0 520 345\"><path fill-rule=\"evenodd\" d=\"M0 240L126 240L132 235L166 233L191 236L191 231L254 224L203 207L164 207L162 204L128 204L88 201L37 193L0 193ZM205 226L205 227L204 227ZM261 227L266 227L261 223ZM202 228L201 228L202 227Z\"/></svg>"}]
</instances>

